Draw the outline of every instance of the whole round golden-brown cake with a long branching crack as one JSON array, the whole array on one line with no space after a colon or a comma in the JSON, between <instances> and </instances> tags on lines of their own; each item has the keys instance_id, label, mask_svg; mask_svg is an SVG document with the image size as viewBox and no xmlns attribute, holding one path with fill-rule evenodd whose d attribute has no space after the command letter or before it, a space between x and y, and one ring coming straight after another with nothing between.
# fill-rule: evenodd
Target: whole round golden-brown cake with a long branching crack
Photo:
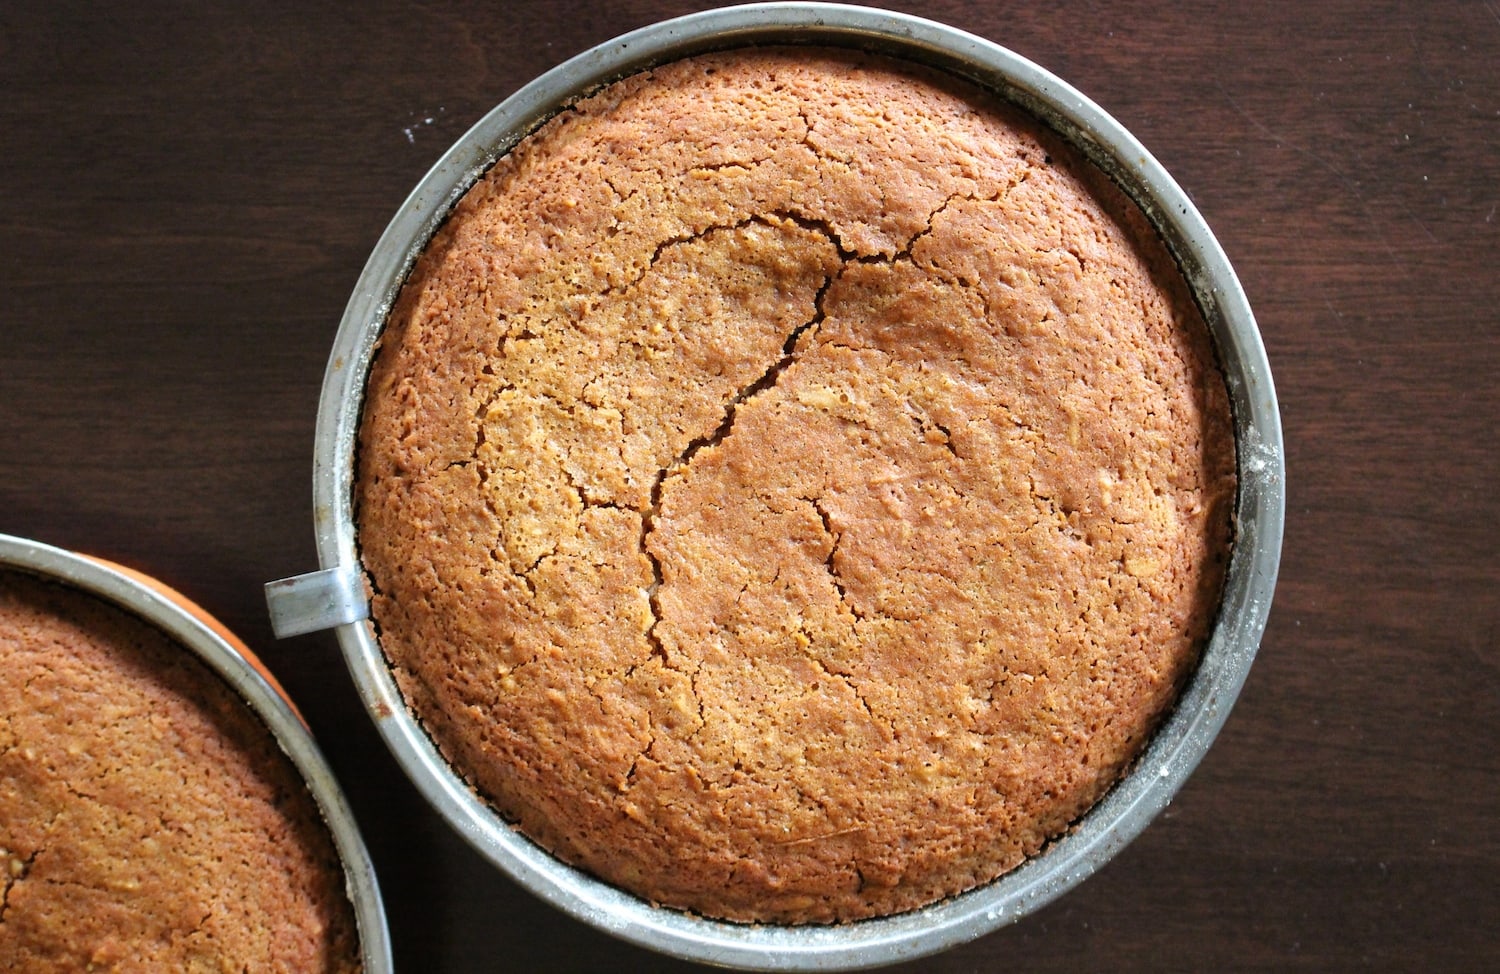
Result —
<instances>
[{"instance_id":1,"label":"whole round golden-brown cake with a long branching crack","mask_svg":"<svg viewBox=\"0 0 1500 974\"><path fill-rule=\"evenodd\" d=\"M627 78L460 203L360 438L380 642L562 858L831 921L1065 830L1212 623L1222 378L1170 258L1014 111L837 53Z\"/></svg>"}]
</instances>

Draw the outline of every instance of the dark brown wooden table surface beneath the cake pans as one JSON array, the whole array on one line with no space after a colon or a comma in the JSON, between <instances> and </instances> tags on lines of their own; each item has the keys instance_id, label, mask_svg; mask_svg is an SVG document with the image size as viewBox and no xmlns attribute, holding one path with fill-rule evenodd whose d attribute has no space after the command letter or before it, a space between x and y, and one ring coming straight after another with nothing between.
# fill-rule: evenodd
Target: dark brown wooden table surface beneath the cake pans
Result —
<instances>
[{"instance_id":1,"label":"dark brown wooden table surface beneath the cake pans","mask_svg":"<svg viewBox=\"0 0 1500 974\"><path fill-rule=\"evenodd\" d=\"M324 362L378 234L526 80L702 5L0 6L0 531L129 563L264 654L364 830L408 971L681 969L426 810L315 567ZM910 969L1500 968L1500 2L904 6L1089 93L1234 263L1287 428L1260 659L1100 875Z\"/></svg>"}]
</instances>

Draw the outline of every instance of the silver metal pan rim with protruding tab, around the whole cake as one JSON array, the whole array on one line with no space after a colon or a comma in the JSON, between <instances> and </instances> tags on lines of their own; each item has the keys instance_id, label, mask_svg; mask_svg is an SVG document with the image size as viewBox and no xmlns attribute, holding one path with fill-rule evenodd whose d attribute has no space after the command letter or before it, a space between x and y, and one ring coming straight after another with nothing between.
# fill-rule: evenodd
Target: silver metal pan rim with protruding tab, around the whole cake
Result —
<instances>
[{"instance_id":1,"label":"silver metal pan rim with protruding tab, around the whole cake","mask_svg":"<svg viewBox=\"0 0 1500 974\"><path fill-rule=\"evenodd\" d=\"M588 92L652 65L748 45L860 48L976 83L1041 119L1140 206L1178 260L1226 375L1238 450L1234 542L1218 621L1174 710L1131 771L1036 857L969 893L838 926L705 920L602 884L534 845L448 767L411 716L368 621L354 528L354 455L366 375L412 263L452 207L520 138ZM1284 521L1281 420L1244 290L1186 194L1098 105L1026 59L915 17L819 3L724 8L603 44L516 92L418 183L375 246L324 378L314 461L321 570L267 585L279 635L336 629L370 717L434 807L486 858L568 914L678 957L759 969L849 969L944 950L1014 921L1094 873L1172 800L1228 716L1270 611Z\"/></svg>"}]
</instances>

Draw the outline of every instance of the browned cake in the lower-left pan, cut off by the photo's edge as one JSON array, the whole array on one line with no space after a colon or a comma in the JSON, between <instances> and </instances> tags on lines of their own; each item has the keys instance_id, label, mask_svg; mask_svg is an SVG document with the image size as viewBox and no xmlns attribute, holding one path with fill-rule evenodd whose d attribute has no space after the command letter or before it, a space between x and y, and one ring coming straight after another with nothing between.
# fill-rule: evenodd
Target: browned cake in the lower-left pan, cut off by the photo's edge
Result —
<instances>
[{"instance_id":1,"label":"browned cake in the lower-left pan, cut off by the photo's edge","mask_svg":"<svg viewBox=\"0 0 1500 974\"><path fill-rule=\"evenodd\" d=\"M357 971L312 797L183 647L0 572L0 969Z\"/></svg>"}]
</instances>

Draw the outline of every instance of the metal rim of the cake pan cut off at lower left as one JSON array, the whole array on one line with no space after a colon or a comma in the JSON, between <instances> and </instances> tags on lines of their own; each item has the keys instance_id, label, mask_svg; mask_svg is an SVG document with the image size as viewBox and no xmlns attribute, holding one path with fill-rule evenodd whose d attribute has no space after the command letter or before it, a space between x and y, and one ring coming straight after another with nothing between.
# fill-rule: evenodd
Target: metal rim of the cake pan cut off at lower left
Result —
<instances>
[{"instance_id":1,"label":"metal rim of the cake pan cut off at lower left","mask_svg":"<svg viewBox=\"0 0 1500 974\"><path fill-rule=\"evenodd\" d=\"M0 569L62 584L124 609L202 660L249 705L306 782L333 840L354 911L363 969L392 971L386 909L364 840L302 714L255 654L201 606L134 569L8 534L0 534Z\"/></svg>"}]
</instances>

